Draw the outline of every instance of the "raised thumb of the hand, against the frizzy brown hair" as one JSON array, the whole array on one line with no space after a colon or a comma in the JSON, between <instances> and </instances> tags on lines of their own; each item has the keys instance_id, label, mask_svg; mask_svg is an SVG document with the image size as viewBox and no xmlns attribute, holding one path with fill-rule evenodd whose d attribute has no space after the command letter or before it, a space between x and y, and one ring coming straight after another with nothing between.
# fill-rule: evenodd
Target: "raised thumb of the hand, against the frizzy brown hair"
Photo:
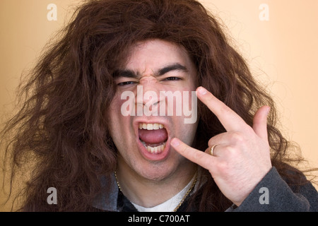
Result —
<instances>
[{"instance_id":1,"label":"raised thumb of the hand, against the frizzy brown hair","mask_svg":"<svg viewBox=\"0 0 318 226\"><path fill-rule=\"evenodd\" d=\"M267 116L271 107L263 106L257 110L253 119L253 130L257 136L268 141L267 137Z\"/></svg>"}]
</instances>

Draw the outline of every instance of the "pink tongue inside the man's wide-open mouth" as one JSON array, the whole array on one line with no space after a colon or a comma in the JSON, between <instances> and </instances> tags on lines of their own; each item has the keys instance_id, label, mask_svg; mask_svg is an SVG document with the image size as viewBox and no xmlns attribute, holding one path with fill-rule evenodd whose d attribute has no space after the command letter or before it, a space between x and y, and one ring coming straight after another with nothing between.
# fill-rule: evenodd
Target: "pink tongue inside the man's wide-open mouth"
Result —
<instances>
[{"instance_id":1,"label":"pink tongue inside the man's wide-open mouth","mask_svg":"<svg viewBox=\"0 0 318 226\"><path fill-rule=\"evenodd\" d=\"M139 138L145 143L163 143L167 141L167 131L165 129L139 129Z\"/></svg>"}]
</instances>

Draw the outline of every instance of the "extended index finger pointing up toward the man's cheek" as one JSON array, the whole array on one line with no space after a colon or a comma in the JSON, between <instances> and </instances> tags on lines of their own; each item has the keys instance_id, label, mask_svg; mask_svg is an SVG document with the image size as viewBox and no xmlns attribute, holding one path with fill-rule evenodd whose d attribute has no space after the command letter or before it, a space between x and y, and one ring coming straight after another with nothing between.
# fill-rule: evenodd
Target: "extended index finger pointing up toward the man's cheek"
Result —
<instances>
[{"instance_id":1,"label":"extended index finger pointing up toward the man's cheek","mask_svg":"<svg viewBox=\"0 0 318 226\"><path fill-rule=\"evenodd\" d=\"M226 131L242 131L248 126L238 114L205 88L197 88L196 95L213 114L216 114Z\"/></svg>"}]
</instances>

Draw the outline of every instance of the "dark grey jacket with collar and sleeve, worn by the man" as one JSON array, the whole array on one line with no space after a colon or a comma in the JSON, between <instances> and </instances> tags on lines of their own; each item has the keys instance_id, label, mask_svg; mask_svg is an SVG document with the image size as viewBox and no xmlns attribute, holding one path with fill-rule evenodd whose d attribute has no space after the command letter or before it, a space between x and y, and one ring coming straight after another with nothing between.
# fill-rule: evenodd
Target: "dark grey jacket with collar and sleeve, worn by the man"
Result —
<instances>
[{"instance_id":1,"label":"dark grey jacket with collar and sleeve, worn by the man","mask_svg":"<svg viewBox=\"0 0 318 226\"><path fill-rule=\"evenodd\" d=\"M106 186L105 182L103 183ZM117 207L119 189L114 177L110 186L111 192L96 197L93 206L99 210L119 212L121 211ZM239 207L232 205L226 212L318 212L318 192L314 186L307 183L297 190L288 186L276 168L272 167ZM105 204L106 198L109 198L110 205ZM127 199L126 203L129 203ZM131 203L129 204L131 211L136 210Z\"/></svg>"}]
</instances>

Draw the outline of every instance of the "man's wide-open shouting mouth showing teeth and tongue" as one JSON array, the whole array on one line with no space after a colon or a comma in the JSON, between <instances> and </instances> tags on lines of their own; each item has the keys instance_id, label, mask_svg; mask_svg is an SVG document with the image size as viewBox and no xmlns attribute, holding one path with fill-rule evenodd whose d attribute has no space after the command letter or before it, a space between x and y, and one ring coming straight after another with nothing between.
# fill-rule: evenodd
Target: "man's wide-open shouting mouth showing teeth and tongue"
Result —
<instances>
[{"instance_id":1,"label":"man's wide-open shouting mouth showing teeth and tongue","mask_svg":"<svg viewBox=\"0 0 318 226\"><path fill-rule=\"evenodd\" d=\"M167 130L159 123L139 123L139 140L148 153L160 154L167 143Z\"/></svg>"}]
</instances>

